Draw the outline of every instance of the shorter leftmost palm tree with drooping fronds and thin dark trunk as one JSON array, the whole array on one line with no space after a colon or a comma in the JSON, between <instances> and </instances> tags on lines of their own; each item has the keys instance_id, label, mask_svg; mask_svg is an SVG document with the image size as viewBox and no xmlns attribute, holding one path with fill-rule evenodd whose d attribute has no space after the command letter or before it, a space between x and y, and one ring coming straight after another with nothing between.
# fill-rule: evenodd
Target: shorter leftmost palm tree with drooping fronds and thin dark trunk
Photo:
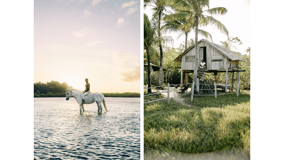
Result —
<instances>
[{"instance_id":1,"label":"shorter leftmost palm tree with drooping fronds and thin dark trunk","mask_svg":"<svg viewBox=\"0 0 284 160\"><path fill-rule=\"evenodd\" d=\"M173 39L170 36L157 36L156 27L153 25L144 13L144 50L147 53L148 61L148 93L151 93L151 71L150 71L150 54L155 54L157 50L153 47L153 44L160 44L162 42L172 42Z\"/></svg>"}]
</instances>

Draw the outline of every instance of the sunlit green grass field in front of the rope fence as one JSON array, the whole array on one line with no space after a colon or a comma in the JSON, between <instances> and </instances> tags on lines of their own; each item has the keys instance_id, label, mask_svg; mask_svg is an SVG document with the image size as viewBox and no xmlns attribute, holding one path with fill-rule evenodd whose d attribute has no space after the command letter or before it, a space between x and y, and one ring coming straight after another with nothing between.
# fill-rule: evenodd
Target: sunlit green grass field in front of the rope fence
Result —
<instances>
[{"instance_id":1,"label":"sunlit green grass field in front of the rope fence","mask_svg":"<svg viewBox=\"0 0 284 160\"><path fill-rule=\"evenodd\" d=\"M163 98L153 97L145 101ZM237 151L250 157L250 93L194 96L193 102L188 96L185 101L191 107L174 100L144 104L144 154Z\"/></svg>"}]
</instances>

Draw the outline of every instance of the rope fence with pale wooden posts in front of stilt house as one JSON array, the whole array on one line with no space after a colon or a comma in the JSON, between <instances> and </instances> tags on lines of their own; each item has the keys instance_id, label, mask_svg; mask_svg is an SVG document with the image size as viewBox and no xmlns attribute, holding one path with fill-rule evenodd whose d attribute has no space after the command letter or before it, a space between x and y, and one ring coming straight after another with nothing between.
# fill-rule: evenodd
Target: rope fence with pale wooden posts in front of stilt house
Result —
<instances>
[{"instance_id":1,"label":"rope fence with pale wooden posts in front of stilt house","mask_svg":"<svg viewBox=\"0 0 284 160\"><path fill-rule=\"evenodd\" d=\"M247 82L244 82L244 83L249 84L250 82L247 81ZM200 88L199 88L199 89L194 89L194 82L193 82L193 83L183 84L183 85L189 85L189 84L192 84L191 92L186 93L186 94L183 94L183 95L179 95L179 96L176 96L176 97L181 97L181 96L184 96L184 95L187 95L187 94L190 94L190 93L194 93L194 92L192 92L192 91L194 91L194 90L197 90L197 91L199 91L199 90L215 91L215 95L195 95L195 96L215 96L215 99L217 99L217 95L227 95L227 94L237 93L237 97L238 97L238 96L239 96L239 89L249 88L249 87L242 87L242 88L240 88L240 87L239 87L240 84L243 84L243 83L239 83L239 81L238 81L238 83L229 83L229 84L236 84L237 88L231 88L232 91L233 91L233 89L237 89L236 92L231 92L231 93L225 92L224 94L217 94L217 88L220 88L220 87L216 87L216 85L224 85L224 84L216 84L216 83L214 83L214 84L209 84L209 85L214 85L214 89L200 89ZM175 85L175 84L172 84L172 85ZM178 84L178 85L181 85L181 84ZM208 84L197 83L196 85L208 85ZM228 85L228 84L225 84L225 85ZM168 93L168 97L167 97L167 98L164 98L164 99L168 99L168 104L170 104L170 98L176 98L176 97L170 97L170 83L168 83L168 85L156 86L156 87L164 87L164 86L168 86L168 87L167 87L167 88L168 88L168 91L167 91L167 92L160 92L160 93ZM156 87L150 87L150 88L156 88ZM202 88L202 87L201 87L201 88ZM226 88L227 88L227 87L225 87L225 89L226 89ZM144 89L149 89L149 88L144 88ZM221 89L223 90L223 88L221 88ZM248 91L248 92L250 92L250 91ZM248 92L241 92L241 93L248 93ZM149 94L149 95L156 95L156 94L159 94L159 93L153 93L153 94ZM149 95L144 95L144 97L145 97L145 96L149 96ZM194 96L194 94L191 94L191 102L193 101L193 96ZM164 99L158 99L158 100L164 100ZM153 100L153 101L149 101L149 102L155 102L155 101L158 101L158 100ZM144 102L144 104L145 104L145 103L149 103L149 102Z\"/></svg>"}]
</instances>

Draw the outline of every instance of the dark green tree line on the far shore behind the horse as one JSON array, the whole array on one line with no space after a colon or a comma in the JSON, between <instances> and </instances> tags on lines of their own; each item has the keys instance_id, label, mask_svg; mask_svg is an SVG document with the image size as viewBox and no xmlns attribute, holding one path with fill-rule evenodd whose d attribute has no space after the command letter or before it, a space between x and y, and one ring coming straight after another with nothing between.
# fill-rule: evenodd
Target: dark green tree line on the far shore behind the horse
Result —
<instances>
[{"instance_id":1,"label":"dark green tree line on the far shore behind the horse","mask_svg":"<svg viewBox=\"0 0 284 160\"><path fill-rule=\"evenodd\" d=\"M34 83L34 97L66 97L66 90L73 88L66 82L51 81ZM140 97L140 93L102 93L105 97Z\"/></svg>"}]
</instances>

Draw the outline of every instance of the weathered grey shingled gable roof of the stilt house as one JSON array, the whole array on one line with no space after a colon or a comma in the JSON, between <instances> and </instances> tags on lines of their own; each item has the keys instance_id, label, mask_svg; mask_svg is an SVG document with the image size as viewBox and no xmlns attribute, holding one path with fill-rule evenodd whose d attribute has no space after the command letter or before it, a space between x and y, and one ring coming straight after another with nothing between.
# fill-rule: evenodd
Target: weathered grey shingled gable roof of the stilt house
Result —
<instances>
[{"instance_id":1,"label":"weathered grey shingled gable roof of the stilt house","mask_svg":"<svg viewBox=\"0 0 284 160\"><path fill-rule=\"evenodd\" d=\"M224 55L225 57L229 58L230 60L240 60L240 61L244 61L243 59L241 59L239 56L237 56L236 54L234 54L233 52L227 50L225 47L220 46L218 44L215 44L213 42L210 42L206 39L201 39L198 41L198 43L200 42L205 42L208 45L210 45L211 47L213 47L214 49L216 49L217 51L219 51L222 55ZM175 60L174 62L181 62L181 57L184 56L187 52L189 52L191 49L193 49L195 47L195 45L190 46L189 48L187 48L187 50L185 50L182 54L180 54Z\"/></svg>"}]
</instances>

